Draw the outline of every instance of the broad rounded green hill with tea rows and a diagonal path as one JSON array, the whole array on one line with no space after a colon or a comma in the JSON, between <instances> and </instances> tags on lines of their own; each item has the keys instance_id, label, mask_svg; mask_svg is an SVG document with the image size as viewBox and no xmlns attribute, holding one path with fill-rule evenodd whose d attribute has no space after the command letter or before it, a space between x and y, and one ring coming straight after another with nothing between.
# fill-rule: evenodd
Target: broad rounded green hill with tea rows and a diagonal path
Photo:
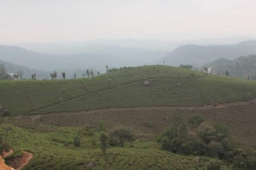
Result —
<instances>
[{"instance_id":1,"label":"broad rounded green hill with tea rows and a diagonal path","mask_svg":"<svg viewBox=\"0 0 256 170\"><path fill-rule=\"evenodd\" d=\"M143 85L148 80L151 85ZM1 81L0 106L11 115L109 107L203 106L250 100L256 83L179 67L123 68L76 80Z\"/></svg>"}]
</instances>

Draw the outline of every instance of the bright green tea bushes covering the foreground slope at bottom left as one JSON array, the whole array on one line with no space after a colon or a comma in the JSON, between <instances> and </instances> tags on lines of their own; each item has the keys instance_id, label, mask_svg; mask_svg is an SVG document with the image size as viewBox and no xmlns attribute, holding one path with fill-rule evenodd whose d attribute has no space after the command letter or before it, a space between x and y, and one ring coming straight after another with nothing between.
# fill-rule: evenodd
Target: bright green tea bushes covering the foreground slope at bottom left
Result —
<instances>
[{"instance_id":1,"label":"bright green tea bushes covering the foreground slope at bottom left","mask_svg":"<svg viewBox=\"0 0 256 170\"><path fill-rule=\"evenodd\" d=\"M196 164L194 157L161 151L155 141L137 140L134 143L126 143L123 148L111 147L106 155L103 155L98 143L96 146L92 145L93 139L98 142L99 132L94 131L94 135L90 137L82 136L81 146L75 148L73 138L79 127L41 125L41 128L46 126L50 131L42 133L10 124L0 124L0 135L14 150L10 157L20 156L23 151L33 153L32 160L24 169L88 169L90 161L95 163L93 169L203 169L205 164Z\"/></svg>"}]
</instances>

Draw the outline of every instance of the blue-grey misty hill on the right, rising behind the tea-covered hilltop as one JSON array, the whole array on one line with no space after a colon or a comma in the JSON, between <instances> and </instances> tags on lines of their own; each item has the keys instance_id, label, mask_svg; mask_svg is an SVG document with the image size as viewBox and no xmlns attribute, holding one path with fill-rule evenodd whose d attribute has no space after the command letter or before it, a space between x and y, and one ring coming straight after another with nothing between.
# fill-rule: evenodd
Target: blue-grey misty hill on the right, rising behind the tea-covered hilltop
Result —
<instances>
[{"instance_id":1,"label":"blue-grey misty hill on the right, rising behind the tea-covered hilltop","mask_svg":"<svg viewBox=\"0 0 256 170\"><path fill-rule=\"evenodd\" d=\"M201 66L210 61L226 58L235 59L240 56L256 54L256 41L243 41L231 45L202 46L187 44L168 53L158 63L178 66L180 64L197 64Z\"/></svg>"}]
</instances>

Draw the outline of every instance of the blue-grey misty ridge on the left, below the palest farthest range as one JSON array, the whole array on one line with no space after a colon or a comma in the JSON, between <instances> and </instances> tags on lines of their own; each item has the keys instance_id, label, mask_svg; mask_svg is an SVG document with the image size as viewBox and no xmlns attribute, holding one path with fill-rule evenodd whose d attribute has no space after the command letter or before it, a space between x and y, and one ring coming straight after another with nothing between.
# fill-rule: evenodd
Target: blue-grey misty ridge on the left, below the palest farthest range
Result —
<instances>
[{"instance_id":1,"label":"blue-grey misty ridge on the left, below the palest farthest range","mask_svg":"<svg viewBox=\"0 0 256 170\"><path fill-rule=\"evenodd\" d=\"M87 53L83 53L86 51ZM17 46L0 45L1 60L46 71L91 68L102 72L105 71L105 65L107 64L110 67L152 64L165 54L164 52L154 52L142 48L92 45L85 48L84 51L77 51L74 54L56 55L37 53Z\"/></svg>"}]
</instances>

